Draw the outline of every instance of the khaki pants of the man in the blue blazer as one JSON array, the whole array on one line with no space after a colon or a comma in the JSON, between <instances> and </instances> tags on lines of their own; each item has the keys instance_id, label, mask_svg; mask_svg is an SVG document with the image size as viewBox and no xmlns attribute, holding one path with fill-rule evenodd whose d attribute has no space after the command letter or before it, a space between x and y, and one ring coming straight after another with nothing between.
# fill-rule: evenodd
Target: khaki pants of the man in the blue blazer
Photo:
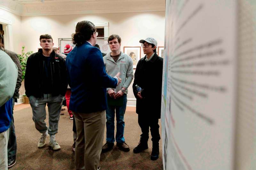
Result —
<instances>
[{"instance_id":1,"label":"khaki pants of the man in the blue blazer","mask_svg":"<svg viewBox=\"0 0 256 170\"><path fill-rule=\"evenodd\" d=\"M73 112L76 120L76 169L97 170L106 124L106 111Z\"/></svg>"}]
</instances>

